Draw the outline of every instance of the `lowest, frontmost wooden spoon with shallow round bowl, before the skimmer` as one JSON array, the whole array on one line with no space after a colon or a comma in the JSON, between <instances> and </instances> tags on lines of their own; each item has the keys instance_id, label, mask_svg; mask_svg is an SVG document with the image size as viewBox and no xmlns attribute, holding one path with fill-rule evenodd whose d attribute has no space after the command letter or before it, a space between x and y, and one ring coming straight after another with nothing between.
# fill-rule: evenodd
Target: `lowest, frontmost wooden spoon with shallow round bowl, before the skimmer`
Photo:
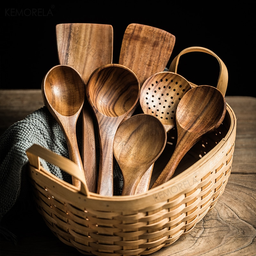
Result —
<instances>
[{"instance_id":1,"label":"lowest, frontmost wooden spoon with shallow round bowl, before the skimmer","mask_svg":"<svg viewBox=\"0 0 256 256\"><path fill-rule=\"evenodd\" d=\"M163 124L148 114L132 116L118 127L114 155L124 177L123 196L135 194L140 178L163 152L166 139Z\"/></svg>"}]
</instances>

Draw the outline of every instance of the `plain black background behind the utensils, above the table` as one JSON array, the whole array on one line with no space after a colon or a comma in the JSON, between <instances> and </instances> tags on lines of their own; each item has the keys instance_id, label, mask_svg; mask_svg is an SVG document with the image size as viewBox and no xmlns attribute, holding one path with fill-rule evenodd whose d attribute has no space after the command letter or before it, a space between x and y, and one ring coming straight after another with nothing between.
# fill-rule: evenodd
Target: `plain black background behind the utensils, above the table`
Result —
<instances>
[{"instance_id":1,"label":"plain black background behind the utensils, above the table","mask_svg":"<svg viewBox=\"0 0 256 256\"><path fill-rule=\"evenodd\" d=\"M255 13L253 1L56 1L49 4L1 3L0 89L39 89L47 71L58 65L58 23L110 24L114 31L113 63L130 23L164 29L176 36L168 62L183 49L202 46L228 68L226 95L255 94ZM36 10L36 15L32 14ZM23 13L23 15L22 15ZM206 56L207 55L207 56ZM182 56L178 73L195 84L215 86L219 64L205 53Z\"/></svg>"}]
</instances>

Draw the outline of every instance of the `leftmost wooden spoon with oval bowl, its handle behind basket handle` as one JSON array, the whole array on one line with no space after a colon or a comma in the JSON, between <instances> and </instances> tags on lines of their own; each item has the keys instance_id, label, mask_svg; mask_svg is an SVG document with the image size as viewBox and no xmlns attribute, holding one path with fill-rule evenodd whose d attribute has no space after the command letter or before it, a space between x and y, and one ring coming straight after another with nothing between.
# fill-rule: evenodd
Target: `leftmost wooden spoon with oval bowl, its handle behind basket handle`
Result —
<instances>
[{"instance_id":1,"label":"leftmost wooden spoon with oval bowl, its handle behind basket handle","mask_svg":"<svg viewBox=\"0 0 256 256\"><path fill-rule=\"evenodd\" d=\"M85 86L76 69L67 65L51 68L42 82L44 103L59 123L68 145L69 158L83 171L77 140L76 122L84 104ZM73 185L80 188L81 182L72 177ZM88 189L87 189L88 195Z\"/></svg>"}]
</instances>

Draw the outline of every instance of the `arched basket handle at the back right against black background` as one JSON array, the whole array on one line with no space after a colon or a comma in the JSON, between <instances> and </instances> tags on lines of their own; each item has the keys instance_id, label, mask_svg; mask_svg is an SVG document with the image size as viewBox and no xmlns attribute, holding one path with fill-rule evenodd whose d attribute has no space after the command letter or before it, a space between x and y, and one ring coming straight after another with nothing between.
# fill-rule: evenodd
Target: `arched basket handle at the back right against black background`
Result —
<instances>
[{"instance_id":1,"label":"arched basket handle at the back right against black background","mask_svg":"<svg viewBox=\"0 0 256 256\"><path fill-rule=\"evenodd\" d=\"M217 83L217 89L220 90L220 92L222 92L222 94L225 96L226 90L227 90L227 86L228 86L228 70L226 65L224 64L224 62L211 50L204 48L204 47L188 47L184 50L182 50L171 62L169 71L177 73L177 68L178 68L178 63L180 60L180 56L188 53L188 52L205 52L208 53L212 56L214 56L219 64L220 64L220 75L219 75L219 79L218 79L218 83ZM196 84L190 83L192 86L196 86Z\"/></svg>"}]
</instances>

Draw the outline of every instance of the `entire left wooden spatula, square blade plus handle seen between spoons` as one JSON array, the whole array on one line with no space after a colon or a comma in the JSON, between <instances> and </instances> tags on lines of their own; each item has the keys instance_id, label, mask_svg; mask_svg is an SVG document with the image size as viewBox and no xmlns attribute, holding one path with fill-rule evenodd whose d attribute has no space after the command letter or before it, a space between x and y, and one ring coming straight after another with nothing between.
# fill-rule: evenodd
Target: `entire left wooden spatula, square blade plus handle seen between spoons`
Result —
<instances>
[{"instance_id":1,"label":"entire left wooden spatula, square blade plus handle seen between spoons","mask_svg":"<svg viewBox=\"0 0 256 256\"><path fill-rule=\"evenodd\" d=\"M56 25L57 50L60 64L76 68L85 85L98 67L112 63L113 27L108 24L66 23ZM82 160L89 191L97 191L97 165L93 113L85 96L82 136Z\"/></svg>"}]
</instances>

